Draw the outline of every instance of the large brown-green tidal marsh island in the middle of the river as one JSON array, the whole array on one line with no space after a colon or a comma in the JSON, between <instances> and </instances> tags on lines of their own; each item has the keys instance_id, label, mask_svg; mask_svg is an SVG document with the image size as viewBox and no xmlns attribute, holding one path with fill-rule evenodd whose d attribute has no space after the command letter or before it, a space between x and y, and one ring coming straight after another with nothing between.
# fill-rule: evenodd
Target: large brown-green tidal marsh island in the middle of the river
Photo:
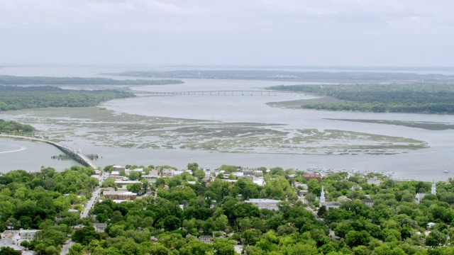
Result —
<instances>
[{"instance_id":1,"label":"large brown-green tidal marsh island in the middle of the river","mask_svg":"<svg viewBox=\"0 0 454 255\"><path fill-rule=\"evenodd\" d=\"M428 147L420 140L367 132L150 117L117 113L102 107L46 108L3 115L34 125L52 140L79 140L104 147L328 155L399 154Z\"/></svg>"}]
</instances>

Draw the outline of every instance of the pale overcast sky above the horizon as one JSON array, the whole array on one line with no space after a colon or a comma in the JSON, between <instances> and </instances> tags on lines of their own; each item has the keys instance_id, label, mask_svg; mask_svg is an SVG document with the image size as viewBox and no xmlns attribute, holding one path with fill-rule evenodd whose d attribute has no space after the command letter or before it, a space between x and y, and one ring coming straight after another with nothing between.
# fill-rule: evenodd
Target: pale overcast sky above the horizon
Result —
<instances>
[{"instance_id":1,"label":"pale overcast sky above the horizon","mask_svg":"<svg viewBox=\"0 0 454 255\"><path fill-rule=\"evenodd\" d=\"M453 0L0 0L0 64L454 67Z\"/></svg>"}]
</instances>

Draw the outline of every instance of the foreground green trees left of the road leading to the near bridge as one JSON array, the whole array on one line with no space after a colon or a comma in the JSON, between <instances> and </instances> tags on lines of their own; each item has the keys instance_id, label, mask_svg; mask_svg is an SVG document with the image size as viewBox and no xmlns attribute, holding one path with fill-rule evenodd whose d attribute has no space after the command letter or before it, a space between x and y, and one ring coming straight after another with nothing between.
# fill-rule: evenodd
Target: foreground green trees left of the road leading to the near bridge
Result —
<instances>
[{"instance_id":1,"label":"foreground green trees left of the road leading to the near bridge","mask_svg":"<svg viewBox=\"0 0 454 255\"><path fill-rule=\"evenodd\" d=\"M40 229L37 239L21 245L39 254L60 254L73 232L71 226L82 222L78 213L68 210L82 210L80 204L87 203L98 184L92 174L93 169L79 166L62 172L42 168L36 173L17 170L0 174L0 231Z\"/></svg>"}]
</instances>

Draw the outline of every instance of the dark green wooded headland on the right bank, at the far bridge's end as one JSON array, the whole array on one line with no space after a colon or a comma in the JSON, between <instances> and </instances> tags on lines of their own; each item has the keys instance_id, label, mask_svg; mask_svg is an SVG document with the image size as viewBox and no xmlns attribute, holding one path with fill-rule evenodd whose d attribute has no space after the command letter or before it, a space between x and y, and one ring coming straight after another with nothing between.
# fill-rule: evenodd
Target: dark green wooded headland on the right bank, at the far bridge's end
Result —
<instances>
[{"instance_id":1,"label":"dark green wooded headland on the right bank, at the far bridge's end","mask_svg":"<svg viewBox=\"0 0 454 255\"><path fill-rule=\"evenodd\" d=\"M302 108L375 113L454 113L454 84L342 84L272 86L267 89L324 94L344 102Z\"/></svg>"}]
</instances>

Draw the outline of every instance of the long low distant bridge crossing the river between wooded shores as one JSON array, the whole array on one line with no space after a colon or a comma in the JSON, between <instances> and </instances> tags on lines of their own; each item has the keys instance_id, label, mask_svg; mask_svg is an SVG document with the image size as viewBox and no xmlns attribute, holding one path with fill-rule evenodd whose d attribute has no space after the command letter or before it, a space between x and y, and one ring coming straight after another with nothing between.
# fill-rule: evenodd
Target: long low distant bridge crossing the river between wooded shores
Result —
<instances>
[{"instance_id":1,"label":"long low distant bridge crossing the river between wooded shores","mask_svg":"<svg viewBox=\"0 0 454 255\"><path fill-rule=\"evenodd\" d=\"M309 94L292 91L262 90L218 90L218 91L132 91L136 96L306 96ZM313 94L319 95L322 94Z\"/></svg>"}]
</instances>

